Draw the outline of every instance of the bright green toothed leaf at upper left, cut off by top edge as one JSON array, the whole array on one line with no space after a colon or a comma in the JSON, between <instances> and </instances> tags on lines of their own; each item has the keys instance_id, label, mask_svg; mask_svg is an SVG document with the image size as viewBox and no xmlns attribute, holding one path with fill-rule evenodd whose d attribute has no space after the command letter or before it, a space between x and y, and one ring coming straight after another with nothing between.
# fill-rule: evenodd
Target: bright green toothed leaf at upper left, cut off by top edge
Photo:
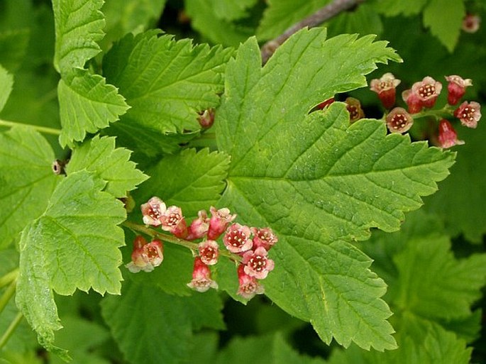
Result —
<instances>
[{"instance_id":1,"label":"bright green toothed leaf at upper left, cut off by top edge","mask_svg":"<svg viewBox=\"0 0 486 364\"><path fill-rule=\"evenodd\" d=\"M55 18L54 67L60 74L84 68L99 52L104 36L103 0L53 0Z\"/></svg>"}]
</instances>

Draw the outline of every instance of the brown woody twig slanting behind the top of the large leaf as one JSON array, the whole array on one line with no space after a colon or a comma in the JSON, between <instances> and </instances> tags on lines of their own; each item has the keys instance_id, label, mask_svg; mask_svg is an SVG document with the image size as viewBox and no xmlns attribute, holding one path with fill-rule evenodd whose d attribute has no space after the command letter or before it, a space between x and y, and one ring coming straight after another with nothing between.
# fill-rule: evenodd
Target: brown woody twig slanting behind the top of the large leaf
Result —
<instances>
[{"instance_id":1,"label":"brown woody twig slanting behind the top of the large leaf","mask_svg":"<svg viewBox=\"0 0 486 364\"><path fill-rule=\"evenodd\" d=\"M269 40L262 47L262 62L263 65L267 60L275 53L275 50L282 45L282 43L287 40L290 35L300 31L304 27L313 28L314 26L319 26L328 21L333 16L338 15L342 11L346 11L355 5L362 3L365 0L334 0L331 4L327 4L324 8L319 9L315 13L311 14L307 18L304 18L299 23L295 23L293 26L287 29L284 33L279 35L277 38Z\"/></svg>"}]
</instances>

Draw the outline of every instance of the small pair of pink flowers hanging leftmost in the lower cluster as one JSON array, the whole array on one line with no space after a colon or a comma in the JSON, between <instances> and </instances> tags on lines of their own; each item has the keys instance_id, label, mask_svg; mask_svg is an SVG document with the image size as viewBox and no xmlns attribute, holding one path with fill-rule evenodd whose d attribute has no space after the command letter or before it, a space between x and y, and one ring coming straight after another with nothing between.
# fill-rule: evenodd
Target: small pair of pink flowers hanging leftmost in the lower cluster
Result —
<instances>
[{"instance_id":1,"label":"small pair of pink flowers hanging leftmost in the lower cluster","mask_svg":"<svg viewBox=\"0 0 486 364\"><path fill-rule=\"evenodd\" d=\"M140 270L151 272L162 264L163 253L164 248L161 241L154 239L147 243L142 236L137 236L133 241L132 261L125 266L133 273L140 272Z\"/></svg>"}]
</instances>

